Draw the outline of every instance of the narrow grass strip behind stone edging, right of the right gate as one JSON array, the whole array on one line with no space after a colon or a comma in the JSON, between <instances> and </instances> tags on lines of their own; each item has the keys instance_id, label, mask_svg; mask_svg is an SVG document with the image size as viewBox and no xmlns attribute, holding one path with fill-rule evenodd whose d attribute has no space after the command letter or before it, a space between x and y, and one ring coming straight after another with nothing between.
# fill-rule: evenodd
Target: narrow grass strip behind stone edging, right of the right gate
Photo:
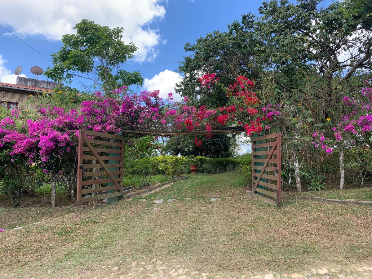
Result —
<instances>
[{"instance_id":1,"label":"narrow grass strip behind stone edging, right of the right gate","mask_svg":"<svg viewBox=\"0 0 372 279\"><path fill-rule=\"evenodd\" d=\"M289 195L297 196L312 196L327 199L355 199L359 201L372 201L372 188L356 188L356 189L331 189L322 191L309 191L302 193L288 193Z\"/></svg>"}]
</instances>

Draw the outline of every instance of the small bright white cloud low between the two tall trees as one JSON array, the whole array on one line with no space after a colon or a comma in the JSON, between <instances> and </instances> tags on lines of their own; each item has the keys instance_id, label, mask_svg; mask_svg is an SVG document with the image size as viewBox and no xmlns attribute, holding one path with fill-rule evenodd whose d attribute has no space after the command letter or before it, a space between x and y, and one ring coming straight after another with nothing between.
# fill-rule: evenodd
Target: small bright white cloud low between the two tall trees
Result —
<instances>
[{"instance_id":1,"label":"small bright white cloud low between the two tall trees","mask_svg":"<svg viewBox=\"0 0 372 279\"><path fill-rule=\"evenodd\" d=\"M173 93L173 98L176 101L181 100L179 94L174 93L176 83L182 80L180 74L165 70L156 74L151 79L145 78L144 89L148 91L160 90L159 96L163 99L168 97L168 93Z\"/></svg>"}]
</instances>

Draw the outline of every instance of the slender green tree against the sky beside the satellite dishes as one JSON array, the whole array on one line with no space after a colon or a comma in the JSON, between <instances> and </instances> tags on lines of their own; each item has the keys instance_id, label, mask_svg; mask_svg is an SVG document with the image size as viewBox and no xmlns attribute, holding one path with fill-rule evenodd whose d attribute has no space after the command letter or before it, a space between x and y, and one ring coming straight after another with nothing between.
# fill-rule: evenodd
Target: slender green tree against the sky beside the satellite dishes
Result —
<instances>
[{"instance_id":1,"label":"slender green tree against the sky beside the satellite dishes","mask_svg":"<svg viewBox=\"0 0 372 279\"><path fill-rule=\"evenodd\" d=\"M74 29L76 34L62 36L63 47L52 54L54 65L44 72L45 76L68 83L74 78L84 78L106 94L115 87L142 85L139 72L121 69L137 50L132 42L125 44L122 41L124 28L111 29L83 19Z\"/></svg>"}]
</instances>

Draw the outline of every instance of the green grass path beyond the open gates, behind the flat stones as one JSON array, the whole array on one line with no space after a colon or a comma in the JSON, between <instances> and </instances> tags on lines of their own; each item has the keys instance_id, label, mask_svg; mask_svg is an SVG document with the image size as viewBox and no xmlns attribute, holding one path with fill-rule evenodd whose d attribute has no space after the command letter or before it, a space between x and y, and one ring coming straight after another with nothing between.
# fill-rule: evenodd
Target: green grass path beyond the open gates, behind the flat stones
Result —
<instances>
[{"instance_id":1,"label":"green grass path beyond the open gates, behind the flat stones","mask_svg":"<svg viewBox=\"0 0 372 279\"><path fill-rule=\"evenodd\" d=\"M243 195L246 181L238 172L190 174L188 179L145 196L145 199L216 198Z\"/></svg>"}]
</instances>

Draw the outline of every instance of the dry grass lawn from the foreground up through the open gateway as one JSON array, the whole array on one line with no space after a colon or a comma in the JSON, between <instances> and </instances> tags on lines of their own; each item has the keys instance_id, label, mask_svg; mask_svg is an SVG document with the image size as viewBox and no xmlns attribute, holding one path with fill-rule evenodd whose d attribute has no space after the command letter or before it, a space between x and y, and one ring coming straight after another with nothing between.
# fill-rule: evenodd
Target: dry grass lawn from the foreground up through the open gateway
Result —
<instances>
[{"instance_id":1,"label":"dry grass lawn from the foreground up through the open gateway","mask_svg":"<svg viewBox=\"0 0 372 279\"><path fill-rule=\"evenodd\" d=\"M311 268L351 276L363 274L363 266L372 270L371 208L290 198L275 208L242 195L243 182L239 173L199 174L147 200L6 230L0 233L0 278L249 278L309 274ZM218 195L232 198L204 198ZM151 200L172 197L180 200ZM0 215L10 211L16 218L19 209Z\"/></svg>"}]
</instances>

